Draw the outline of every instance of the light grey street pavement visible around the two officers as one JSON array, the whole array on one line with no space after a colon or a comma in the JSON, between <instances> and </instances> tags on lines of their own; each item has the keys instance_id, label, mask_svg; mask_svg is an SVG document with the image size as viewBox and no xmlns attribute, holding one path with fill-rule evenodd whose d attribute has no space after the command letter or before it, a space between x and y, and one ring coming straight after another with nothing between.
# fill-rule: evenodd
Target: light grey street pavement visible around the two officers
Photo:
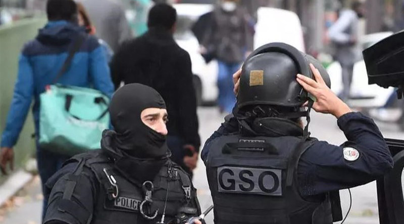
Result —
<instances>
[{"instance_id":1,"label":"light grey street pavement visible around the two officers","mask_svg":"<svg viewBox=\"0 0 404 224\"><path fill-rule=\"evenodd\" d=\"M215 131L223 122L224 114L220 114L215 107L201 107L198 109L199 134L202 142ZM379 127L384 137L404 139L404 132L399 126L391 123L380 123ZM344 142L345 136L339 130L336 119L331 115L312 113L310 124L312 136L327 140L339 145ZM206 178L204 163L199 160L198 167L194 171L194 186L198 189L198 199L203 210L212 204L209 186ZM378 208L376 183L372 182L360 187L352 188L352 208L345 221L346 224L377 224ZM349 207L348 190L340 191L343 215ZM40 184L38 178L28 184L19 193L15 205L0 210L1 224L39 224L41 211ZM213 224L213 212L207 218L207 223Z\"/></svg>"}]
</instances>

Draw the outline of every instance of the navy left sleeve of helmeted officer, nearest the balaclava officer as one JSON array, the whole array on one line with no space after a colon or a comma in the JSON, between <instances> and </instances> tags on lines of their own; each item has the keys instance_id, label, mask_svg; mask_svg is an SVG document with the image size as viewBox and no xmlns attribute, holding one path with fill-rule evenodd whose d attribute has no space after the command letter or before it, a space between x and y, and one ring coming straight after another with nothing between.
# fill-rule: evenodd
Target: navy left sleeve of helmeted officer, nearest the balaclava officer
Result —
<instances>
[{"instance_id":1,"label":"navy left sleeve of helmeted officer, nearest the balaclava officer","mask_svg":"<svg viewBox=\"0 0 404 224\"><path fill-rule=\"evenodd\" d=\"M229 114L225 117L225 121L220 125L219 129L217 129L209 138L206 140L204 148L200 153L200 158L206 162L206 159L209 154L211 142L222 135L234 133L238 131L238 122L237 119L233 116L233 114Z\"/></svg>"}]
</instances>

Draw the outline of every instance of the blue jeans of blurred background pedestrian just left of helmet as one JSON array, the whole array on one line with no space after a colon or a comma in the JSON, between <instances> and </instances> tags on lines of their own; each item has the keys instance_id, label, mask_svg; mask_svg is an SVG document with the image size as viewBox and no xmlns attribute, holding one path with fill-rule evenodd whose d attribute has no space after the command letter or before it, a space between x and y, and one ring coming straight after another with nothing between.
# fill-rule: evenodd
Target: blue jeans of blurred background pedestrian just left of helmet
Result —
<instances>
[{"instance_id":1,"label":"blue jeans of blurred background pedestrian just left of helmet","mask_svg":"<svg viewBox=\"0 0 404 224\"><path fill-rule=\"evenodd\" d=\"M233 73L240 68L240 63L228 63L218 60L218 65L218 104L224 112L231 113L236 103L236 97L233 92Z\"/></svg>"}]
</instances>

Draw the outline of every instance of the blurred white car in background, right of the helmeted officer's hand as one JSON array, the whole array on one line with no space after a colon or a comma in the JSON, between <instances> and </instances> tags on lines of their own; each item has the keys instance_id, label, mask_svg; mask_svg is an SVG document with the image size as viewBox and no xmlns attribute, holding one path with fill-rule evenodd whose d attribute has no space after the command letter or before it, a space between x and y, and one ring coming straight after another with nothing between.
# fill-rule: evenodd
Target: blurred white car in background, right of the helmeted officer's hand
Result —
<instances>
[{"instance_id":1,"label":"blurred white car in background, right of the helmeted officer's hand","mask_svg":"<svg viewBox=\"0 0 404 224\"><path fill-rule=\"evenodd\" d=\"M364 50L378 41L390 36L392 32L380 32L363 36L360 40L360 48ZM330 74L331 90L335 94L342 91L341 65L334 61L327 67ZM368 76L363 58L355 63L354 73L352 74L352 83L350 88L350 97L348 104L359 108L376 108L386 104L394 88L384 89L376 84L368 85Z\"/></svg>"}]
</instances>

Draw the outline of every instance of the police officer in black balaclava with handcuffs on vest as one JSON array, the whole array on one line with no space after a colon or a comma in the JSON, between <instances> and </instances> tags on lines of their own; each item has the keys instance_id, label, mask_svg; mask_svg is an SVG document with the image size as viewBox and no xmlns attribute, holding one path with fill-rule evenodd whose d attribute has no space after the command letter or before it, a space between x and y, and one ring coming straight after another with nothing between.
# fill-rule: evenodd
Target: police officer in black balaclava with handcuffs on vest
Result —
<instances>
[{"instance_id":1,"label":"police officer in black balaclava with handcuffs on vest","mask_svg":"<svg viewBox=\"0 0 404 224\"><path fill-rule=\"evenodd\" d=\"M109 111L115 130L104 131L101 150L74 156L46 183L43 223L184 223L199 215L189 176L169 159L160 94L126 85Z\"/></svg>"}]
</instances>

